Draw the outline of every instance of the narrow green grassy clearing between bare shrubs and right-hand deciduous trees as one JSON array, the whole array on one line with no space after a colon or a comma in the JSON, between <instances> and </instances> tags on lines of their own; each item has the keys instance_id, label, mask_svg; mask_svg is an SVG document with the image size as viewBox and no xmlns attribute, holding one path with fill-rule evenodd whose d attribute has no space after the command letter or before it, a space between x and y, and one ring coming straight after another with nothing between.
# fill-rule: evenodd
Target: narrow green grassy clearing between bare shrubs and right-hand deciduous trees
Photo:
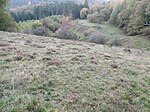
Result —
<instances>
[{"instance_id":1,"label":"narrow green grassy clearing between bare shrubs and right-hand deciduous trees","mask_svg":"<svg viewBox=\"0 0 150 112\"><path fill-rule=\"evenodd\" d=\"M111 40L121 39L124 47L150 50L150 39L142 36L127 36L121 29L110 25L108 22L102 22L98 25L97 23L90 23L88 20L78 20L78 23L86 27L94 28L93 32L101 32Z\"/></svg>"}]
</instances>

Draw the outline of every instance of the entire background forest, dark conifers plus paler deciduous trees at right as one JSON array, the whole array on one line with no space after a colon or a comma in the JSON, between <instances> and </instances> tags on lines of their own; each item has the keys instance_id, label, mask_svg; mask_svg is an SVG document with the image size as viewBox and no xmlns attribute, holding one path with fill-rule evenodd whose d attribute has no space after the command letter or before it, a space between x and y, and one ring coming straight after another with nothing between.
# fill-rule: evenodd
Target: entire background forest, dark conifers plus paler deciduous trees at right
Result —
<instances>
[{"instance_id":1,"label":"entire background forest, dark conifers plus paler deciduous trees at right","mask_svg":"<svg viewBox=\"0 0 150 112\"><path fill-rule=\"evenodd\" d=\"M16 5L17 3L26 4L27 0L17 3L15 2L16 1L14 1L14 4ZM109 24L119 27L128 35L143 35L147 37L149 37L150 35L149 0L123 0L119 2L111 1L105 3L96 3L93 5L89 5L88 0L85 0L83 4L78 4L74 1L58 2L54 0L53 2L46 2L47 1L41 3L40 0L36 0L36 2L32 1L32 3L40 4L28 4L23 7L17 7L15 9L13 8L13 10L10 10L10 14L16 22L27 20L40 20L42 18L53 15L69 16L72 19L87 19L89 20L89 22L98 24L106 21ZM3 13L2 15L7 15L7 17L9 18L8 21L11 21L10 23L13 23L10 15L6 14L5 7L6 5L1 8L1 13ZM2 20L3 19L1 19L1 21ZM10 30L10 28L8 29Z\"/></svg>"}]
</instances>

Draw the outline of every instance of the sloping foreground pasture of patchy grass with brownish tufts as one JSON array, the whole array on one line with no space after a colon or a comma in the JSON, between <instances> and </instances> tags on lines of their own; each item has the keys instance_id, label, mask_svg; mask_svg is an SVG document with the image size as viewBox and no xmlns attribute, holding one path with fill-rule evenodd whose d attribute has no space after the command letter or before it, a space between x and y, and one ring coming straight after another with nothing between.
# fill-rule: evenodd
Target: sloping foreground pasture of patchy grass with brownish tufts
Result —
<instances>
[{"instance_id":1,"label":"sloping foreground pasture of patchy grass with brownish tufts","mask_svg":"<svg viewBox=\"0 0 150 112\"><path fill-rule=\"evenodd\" d=\"M148 112L150 52L0 32L1 112Z\"/></svg>"}]
</instances>

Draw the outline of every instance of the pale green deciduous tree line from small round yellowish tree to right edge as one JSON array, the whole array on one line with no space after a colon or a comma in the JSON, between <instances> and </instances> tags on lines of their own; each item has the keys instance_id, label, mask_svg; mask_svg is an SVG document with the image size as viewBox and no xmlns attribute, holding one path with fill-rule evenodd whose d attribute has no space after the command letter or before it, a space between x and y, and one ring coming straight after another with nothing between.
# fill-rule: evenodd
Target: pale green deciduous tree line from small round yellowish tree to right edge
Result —
<instances>
[{"instance_id":1,"label":"pale green deciduous tree line from small round yellowish tree to right edge","mask_svg":"<svg viewBox=\"0 0 150 112\"><path fill-rule=\"evenodd\" d=\"M110 24L121 28L128 35L144 35L150 38L150 0L123 0L94 4L80 11L82 19Z\"/></svg>"}]
</instances>

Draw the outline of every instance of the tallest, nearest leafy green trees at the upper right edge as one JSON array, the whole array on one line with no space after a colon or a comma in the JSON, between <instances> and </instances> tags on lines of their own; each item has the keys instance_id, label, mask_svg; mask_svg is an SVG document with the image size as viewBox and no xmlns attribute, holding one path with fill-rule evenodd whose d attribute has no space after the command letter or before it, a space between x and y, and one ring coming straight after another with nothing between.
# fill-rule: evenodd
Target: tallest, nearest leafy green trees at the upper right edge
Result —
<instances>
[{"instance_id":1,"label":"tallest, nearest leafy green trees at the upper right edge","mask_svg":"<svg viewBox=\"0 0 150 112\"><path fill-rule=\"evenodd\" d=\"M116 4L109 23L118 26L128 35L150 36L150 1L124 0Z\"/></svg>"}]
</instances>

